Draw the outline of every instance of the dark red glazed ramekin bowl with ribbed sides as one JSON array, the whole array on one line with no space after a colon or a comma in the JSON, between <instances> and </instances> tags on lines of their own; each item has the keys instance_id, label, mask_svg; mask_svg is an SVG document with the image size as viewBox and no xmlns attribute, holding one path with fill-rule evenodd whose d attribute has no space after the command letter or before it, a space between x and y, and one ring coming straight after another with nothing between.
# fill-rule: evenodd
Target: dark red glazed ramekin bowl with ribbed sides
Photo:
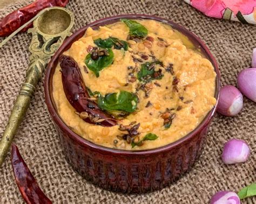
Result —
<instances>
[{"instance_id":1,"label":"dark red glazed ramekin bowl with ribbed sides","mask_svg":"<svg viewBox=\"0 0 256 204\"><path fill-rule=\"evenodd\" d=\"M220 74L217 62L203 41L197 36L170 20L148 15L120 15L97 20L82 27L66 39L52 57L45 76L45 100L59 132L60 143L68 162L86 180L99 187L123 193L145 193L171 184L193 166L194 161L201 154L207 129L215 114L216 107L188 135L174 143L152 150L126 151L107 148L91 143L69 129L59 117L52 97L52 75L58 64L58 58L70 48L74 41L84 35L88 27L97 29L98 26L117 22L120 18L158 20L185 34L196 47L200 48L215 68L217 73L215 90L217 102L219 99Z\"/></svg>"}]
</instances>

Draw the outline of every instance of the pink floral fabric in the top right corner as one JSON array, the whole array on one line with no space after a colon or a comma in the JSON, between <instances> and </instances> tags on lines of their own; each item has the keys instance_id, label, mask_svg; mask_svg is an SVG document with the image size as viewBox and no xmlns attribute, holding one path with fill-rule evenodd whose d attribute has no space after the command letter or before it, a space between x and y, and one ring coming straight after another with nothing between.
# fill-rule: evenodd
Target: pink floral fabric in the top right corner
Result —
<instances>
[{"instance_id":1,"label":"pink floral fabric in the top right corner","mask_svg":"<svg viewBox=\"0 0 256 204\"><path fill-rule=\"evenodd\" d=\"M206 16L256 24L256 0L184 0Z\"/></svg>"}]
</instances>

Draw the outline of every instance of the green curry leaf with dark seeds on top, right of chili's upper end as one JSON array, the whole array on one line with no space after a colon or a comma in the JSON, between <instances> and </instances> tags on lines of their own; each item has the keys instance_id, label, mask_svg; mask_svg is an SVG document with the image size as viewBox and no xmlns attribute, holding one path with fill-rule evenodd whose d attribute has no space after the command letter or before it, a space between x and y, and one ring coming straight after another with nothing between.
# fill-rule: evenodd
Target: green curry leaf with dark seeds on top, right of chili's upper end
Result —
<instances>
[{"instance_id":1,"label":"green curry leaf with dark seeds on top, right of chili's upper end","mask_svg":"<svg viewBox=\"0 0 256 204\"><path fill-rule=\"evenodd\" d=\"M97 60L91 58L91 54L87 54L85 58L86 66L99 77L99 71L113 63L114 53L110 48L107 48L109 55L100 56Z\"/></svg>"}]
</instances>

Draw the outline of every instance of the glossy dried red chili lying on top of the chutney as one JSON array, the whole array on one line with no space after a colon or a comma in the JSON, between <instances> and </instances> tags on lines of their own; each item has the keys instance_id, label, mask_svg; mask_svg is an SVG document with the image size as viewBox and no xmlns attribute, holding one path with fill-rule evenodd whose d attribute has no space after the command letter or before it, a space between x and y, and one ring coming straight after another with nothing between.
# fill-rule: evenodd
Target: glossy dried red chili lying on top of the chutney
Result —
<instances>
[{"instance_id":1,"label":"glossy dried red chili lying on top of the chutney","mask_svg":"<svg viewBox=\"0 0 256 204\"><path fill-rule=\"evenodd\" d=\"M66 98L78 112L87 112L89 117L84 118L84 121L102 126L116 125L115 119L108 117L105 112L100 110L97 103L89 99L90 95L84 85L77 62L65 55L60 56L59 61L62 68L62 83ZM105 120L97 122L97 120L94 120L95 118Z\"/></svg>"}]
</instances>

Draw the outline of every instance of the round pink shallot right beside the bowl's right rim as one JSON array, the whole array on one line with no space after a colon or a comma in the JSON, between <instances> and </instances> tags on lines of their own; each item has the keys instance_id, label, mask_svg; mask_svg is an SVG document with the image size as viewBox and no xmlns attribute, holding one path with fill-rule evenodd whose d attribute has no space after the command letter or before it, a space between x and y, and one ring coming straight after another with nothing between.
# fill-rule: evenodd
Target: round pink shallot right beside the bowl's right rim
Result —
<instances>
[{"instance_id":1,"label":"round pink shallot right beside the bowl's right rim","mask_svg":"<svg viewBox=\"0 0 256 204\"><path fill-rule=\"evenodd\" d=\"M220 89L217 111L225 116L237 115L243 105L241 92L234 86L227 85Z\"/></svg>"}]
</instances>

